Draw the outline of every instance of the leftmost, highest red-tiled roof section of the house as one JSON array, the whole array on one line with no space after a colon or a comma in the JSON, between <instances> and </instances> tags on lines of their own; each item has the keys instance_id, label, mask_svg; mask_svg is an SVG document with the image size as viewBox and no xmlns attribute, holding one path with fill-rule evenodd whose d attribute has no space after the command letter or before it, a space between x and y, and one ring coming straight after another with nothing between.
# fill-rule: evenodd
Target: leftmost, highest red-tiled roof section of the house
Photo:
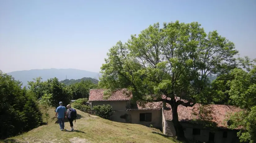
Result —
<instances>
[{"instance_id":1,"label":"leftmost, highest red-tiled roof section of the house","mask_svg":"<svg viewBox=\"0 0 256 143\"><path fill-rule=\"evenodd\" d=\"M107 99L104 98L104 92L107 89L90 89L89 102L91 101L128 101L132 98L132 92L126 88L118 89Z\"/></svg>"}]
</instances>

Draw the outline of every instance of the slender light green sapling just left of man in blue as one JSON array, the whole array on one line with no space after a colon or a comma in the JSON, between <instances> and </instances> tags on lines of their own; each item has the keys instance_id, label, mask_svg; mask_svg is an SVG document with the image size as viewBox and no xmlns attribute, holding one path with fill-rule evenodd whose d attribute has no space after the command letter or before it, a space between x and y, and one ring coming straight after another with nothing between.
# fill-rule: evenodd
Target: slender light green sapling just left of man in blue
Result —
<instances>
[{"instance_id":1,"label":"slender light green sapling just left of man in blue","mask_svg":"<svg viewBox=\"0 0 256 143\"><path fill-rule=\"evenodd\" d=\"M52 94L44 94L42 98L39 100L39 102L42 105L42 108L44 110L44 116L46 118L46 123L48 124L48 119L50 117L48 110L51 108L51 102L52 102Z\"/></svg>"}]
</instances>

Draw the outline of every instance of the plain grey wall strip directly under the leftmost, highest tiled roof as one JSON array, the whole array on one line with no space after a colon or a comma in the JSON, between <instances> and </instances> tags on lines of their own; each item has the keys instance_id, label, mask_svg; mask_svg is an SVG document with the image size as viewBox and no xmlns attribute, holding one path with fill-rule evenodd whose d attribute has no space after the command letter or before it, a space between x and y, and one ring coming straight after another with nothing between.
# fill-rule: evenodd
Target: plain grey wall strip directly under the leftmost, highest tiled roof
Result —
<instances>
[{"instance_id":1,"label":"plain grey wall strip directly under the leftmost, highest tiled roof","mask_svg":"<svg viewBox=\"0 0 256 143\"><path fill-rule=\"evenodd\" d=\"M121 111L126 111L126 107L130 106L130 101L93 101L92 107L95 105L103 105L103 104L109 104L112 106L112 110L121 110Z\"/></svg>"}]
</instances>

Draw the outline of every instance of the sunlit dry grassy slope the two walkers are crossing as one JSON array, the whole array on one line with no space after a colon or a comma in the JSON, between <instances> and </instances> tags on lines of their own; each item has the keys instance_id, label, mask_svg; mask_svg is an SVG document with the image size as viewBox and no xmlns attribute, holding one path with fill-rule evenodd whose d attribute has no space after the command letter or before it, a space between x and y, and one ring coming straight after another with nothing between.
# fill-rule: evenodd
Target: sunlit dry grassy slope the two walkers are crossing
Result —
<instances>
[{"instance_id":1,"label":"sunlit dry grassy slope the two walkers are crossing","mask_svg":"<svg viewBox=\"0 0 256 143\"><path fill-rule=\"evenodd\" d=\"M178 143L172 137L166 137L158 129L137 124L124 124L105 120L77 110L74 132L70 132L69 122L65 121L66 131L60 131L54 109L51 109L51 122L27 133L0 141L3 143Z\"/></svg>"}]
</instances>

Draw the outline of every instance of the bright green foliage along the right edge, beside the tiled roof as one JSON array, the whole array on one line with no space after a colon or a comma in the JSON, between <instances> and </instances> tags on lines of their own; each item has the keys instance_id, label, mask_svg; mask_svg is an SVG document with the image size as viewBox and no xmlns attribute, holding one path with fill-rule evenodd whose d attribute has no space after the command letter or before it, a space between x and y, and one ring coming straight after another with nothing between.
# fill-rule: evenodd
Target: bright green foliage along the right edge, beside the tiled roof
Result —
<instances>
[{"instance_id":1,"label":"bright green foliage along the right edge, beside the tiled roof","mask_svg":"<svg viewBox=\"0 0 256 143\"><path fill-rule=\"evenodd\" d=\"M246 68L246 72L242 69L234 69L232 75L235 79L231 80L229 95L233 103L240 108L245 109L238 115L232 116L232 129L243 127L238 133L241 141L256 141L256 66Z\"/></svg>"}]
</instances>

